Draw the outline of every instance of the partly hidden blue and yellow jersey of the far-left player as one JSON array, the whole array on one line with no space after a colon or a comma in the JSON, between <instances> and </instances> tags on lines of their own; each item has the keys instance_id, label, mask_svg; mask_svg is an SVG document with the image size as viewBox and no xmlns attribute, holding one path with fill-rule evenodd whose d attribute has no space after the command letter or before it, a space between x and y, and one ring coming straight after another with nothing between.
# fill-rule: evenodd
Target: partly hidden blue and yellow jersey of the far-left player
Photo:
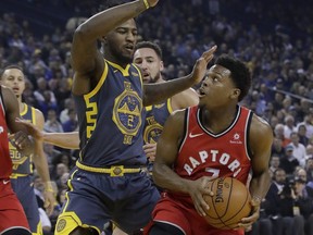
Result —
<instances>
[{"instance_id":1,"label":"partly hidden blue and yellow jersey of the far-left player","mask_svg":"<svg viewBox=\"0 0 313 235\"><path fill-rule=\"evenodd\" d=\"M35 108L24 103L24 110L20 113L21 118L36 125ZM24 156L10 143L10 156L13 162L13 174L28 175L33 173L33 156Z\"/></svg>"}]
</instances>

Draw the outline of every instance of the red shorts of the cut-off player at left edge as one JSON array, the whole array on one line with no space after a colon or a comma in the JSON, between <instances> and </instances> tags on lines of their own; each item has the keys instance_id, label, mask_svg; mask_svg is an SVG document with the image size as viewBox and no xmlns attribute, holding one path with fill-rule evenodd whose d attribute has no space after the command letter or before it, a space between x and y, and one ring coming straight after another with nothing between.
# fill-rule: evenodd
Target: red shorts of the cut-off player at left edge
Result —
<instances>
[{"instance_id":1,"label":"red shorts of the cut-off player at left edge","mask_svg":"<svg viewBox=\"0 0 313 235\"><path fill-rule=\"evenodd\" d=\"M28 222L10 180L0 180L0 234L10 228L29 231Z\"/></svg>"}]
</instances>

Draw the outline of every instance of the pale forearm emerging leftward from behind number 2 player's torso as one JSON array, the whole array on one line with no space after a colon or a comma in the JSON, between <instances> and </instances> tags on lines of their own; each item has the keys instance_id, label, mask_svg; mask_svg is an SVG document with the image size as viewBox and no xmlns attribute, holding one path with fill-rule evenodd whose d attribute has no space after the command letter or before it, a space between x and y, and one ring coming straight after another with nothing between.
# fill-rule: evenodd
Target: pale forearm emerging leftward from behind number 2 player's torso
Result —
<instances>
[{"instance_id":1,"label":"pale forearm emerging leftward from behind number 2 player's torso","mask_svg":"<svg viewBox=\"0 0 313 235\"><path fill-rule=\"evenodd\" d=\"M66 149L79 148L78 132L43 133L43 141Z\"/></svg>"}]
</instances>

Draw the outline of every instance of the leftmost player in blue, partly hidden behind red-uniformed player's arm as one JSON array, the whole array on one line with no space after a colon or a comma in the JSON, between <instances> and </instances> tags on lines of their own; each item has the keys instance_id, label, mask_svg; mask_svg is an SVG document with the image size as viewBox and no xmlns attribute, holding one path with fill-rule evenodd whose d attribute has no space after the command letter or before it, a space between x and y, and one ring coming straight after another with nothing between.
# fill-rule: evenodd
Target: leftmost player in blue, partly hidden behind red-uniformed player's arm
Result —
<instances>
[{"instance_id":1,"label":"leftmost player in blue, partly hidden behind red-uniformed player's arm","mask_svg":"<svg viewBox=\"0 0 313 235\"><path fill-rule=\"evenodd\" d=\"M32 122L39 129L42 129L45 123L42 113L22 101L22 94L25 89L25 77L22 67L17 65L4 67L1 75L1 82L4 86L10 87L15 94L18 100L21 118L27 122ZM54 207L54 196L50 183L47 158L42 149L42 141L40 139L35 141L35 151L32 156L22 154L12 144L10 144L10 156L13 162L13 172L10 176L13 190L24 208L32 233L36 235L42 234L38 205L32 186L33 162L45 183L43 196L47 213L50 214Z\"/></svg>"}]
</instances>

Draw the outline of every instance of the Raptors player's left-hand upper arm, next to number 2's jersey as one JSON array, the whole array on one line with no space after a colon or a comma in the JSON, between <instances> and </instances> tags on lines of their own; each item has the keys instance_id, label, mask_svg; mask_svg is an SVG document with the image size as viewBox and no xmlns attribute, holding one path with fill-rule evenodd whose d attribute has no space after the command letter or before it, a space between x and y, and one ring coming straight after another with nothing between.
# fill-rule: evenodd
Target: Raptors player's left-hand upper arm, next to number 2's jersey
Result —
<instances>
[{"instance_id":1,"label":"Raptors player's left-hand upper arm, next to number 2's jersey","mask_svg":"<svg viewBox=\"0 0 313 235\"><path fill-rule=\"evenodd\" d=\"M172 166L184 133L184 111L171 114L158 140L155 162Z\"/></svg>"}]
</instances>

